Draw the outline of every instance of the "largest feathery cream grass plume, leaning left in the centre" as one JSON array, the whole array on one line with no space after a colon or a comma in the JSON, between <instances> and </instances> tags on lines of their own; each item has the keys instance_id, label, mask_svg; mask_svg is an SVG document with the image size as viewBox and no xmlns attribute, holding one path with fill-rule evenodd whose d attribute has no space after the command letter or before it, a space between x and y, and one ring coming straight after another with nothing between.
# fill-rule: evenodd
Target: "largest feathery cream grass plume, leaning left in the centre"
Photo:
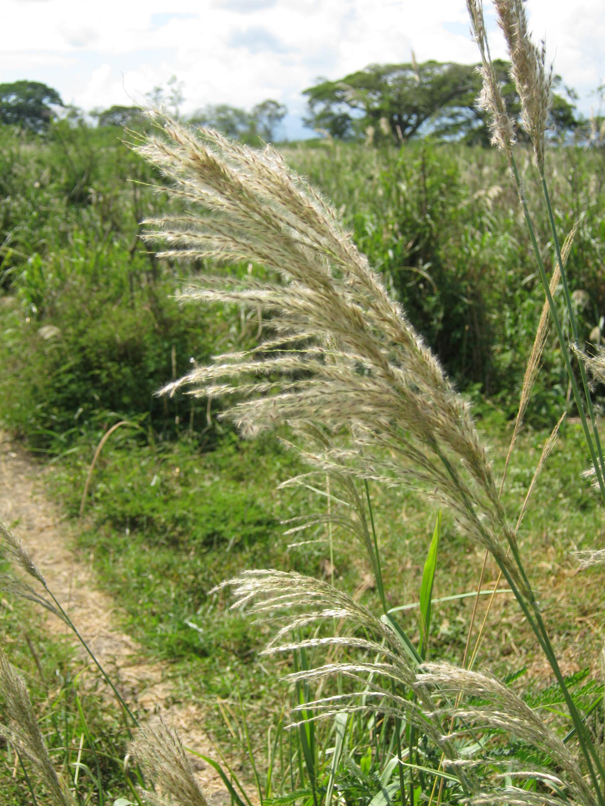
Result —
<instances>
[{"instance_id":1,"label":"largest feathery cream grass plume, leaning left in the centre","mask_svg":"<svg viewBox=\"0 0 605 806\"><path fill-rule=\"evenodd\" d=\"M192 212L148 222L145 237L168 242L172 257L262 263L273 279L202 276L186 289L187 300L269 313L269 341L196 366L163 391L188 386L194 395L236 396L227 416L248 435L280 422L295 430L322 422L338 433L347 422L357 462L333 451L328 462L364 479L380 466L391 484L430 492L530 599L507 556L515 534L468 405L335 212L270 149L254 152L168 119L165 135L137 150ZM389 455L397 460L385 462Z\"/></svg>"}]
</instances>

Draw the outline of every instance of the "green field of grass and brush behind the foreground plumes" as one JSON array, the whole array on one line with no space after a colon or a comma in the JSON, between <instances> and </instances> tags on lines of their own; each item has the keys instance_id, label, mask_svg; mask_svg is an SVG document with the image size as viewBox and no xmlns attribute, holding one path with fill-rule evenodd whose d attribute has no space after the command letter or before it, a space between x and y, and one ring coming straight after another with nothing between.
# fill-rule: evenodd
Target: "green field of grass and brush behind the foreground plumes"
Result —
<instances>
[{"instance_id":1,"label":"green field of grass and brush behind the foreground plumes","mask_svg":"<svg viewBox=\"0 0 605 806\"><path fill-rule=\"evenodd\" d=\"M153 197L147 187L121 180L127 173L156 181L156 169L126 152L115 131L76 129L56 136L63 137L61 147L56 139L7 130L0 146L0 422L44 463L48 496L76 523L94 450L111 426L127 421L111 434L95 463L83 519L74 530L74 553L92 563L98 585L127 614L123 629L149 658L171 664L174 697L207 704L214 714L212 734L231 746L227 752L234 756L253 751L261 778L275 768L274 782L261 787L267 803L313 803L315 783L319 786L321 779L325 791L334 756L314 751L317 780L309 783L307 745L313 737L317 746L323 739L333 748L332 723L311 730L315 723L307 722L306 738L294 740L300 742L295 762L288 761L292 734L277 727L283 702L290 713L294 700L299 704L309 691L300 683L278 682L290 671L290 658L261 658L273 625L262 618L254 621L240 609L229 611L228 593L210 591L244 569L297 571L332 582L378 617L381 597L373 568L337 526L318 521L305 532L284 534L298 522L293 519L310 513L323 517L328 506L331 514L340 511L336 493L329 499L325 494L325 479L280 488L303 471L296 452L279 439L289 438L286 429L244 441L233 426L217 419L219 401L207 405L182 393L155 396L162 384L189 370L191 356L206 364L211 355L253 347L260 332L257 312L236 304L212 304L205 310L177 304L173 294L183 282L216 267L207 259L177 266L157 258L140 241L140 218L166 210L167 202L163 194ZM90 147L82 148L83 142ZM390 294L403 303L457 388L473 401L478 431L499 480L544 299L515 189L499 155L430 142L398 151L336 145L285 153L294 168L333 199ZM529 157L521 160L528 172ZM578 222L568 274L582 339L598 345L605 310L603 154L560 147L549 152L547 161L561 234ZM90 178L86 192L79 181L83 172ZM537 203L531 181L528 196ZM550 266L549 231L540 220L536 230ZM248 261L230 270L245 280L252 269L261 280L268 276ZM562 297L557 305L565 316ZM603 645L605 588L599 567L578 571L570 555L599 546L603 508L582 477L590 457L577 411L566 401L568 381L554 337L547 340L542 365L508 470L503 505L507 512L519 511L540 451L567 406L569 422L561 426L532 493L519 546L561 670L571 675L578 702L589 708L603 689L595 670ZM596 392L598 401L600 387ZM424 659L460 663L483 550L460 533L444 510L431 628L423 641L421 580L439 508L401 485L371 480L369 497L388 609L414 646L424 643ZM27 545L27 533L21 536ZM497 575L490 559L482 589L492 589ZM474 637L488 598L479 598ZM84 719L73 710L78 688L70 668L77 662L64 644L44 634L29 604L6 596L1 617L2 645L10 662L27 674L38 713L48 713L44 735L73 783L62 748L65 737L79 729L73 721ZM24 621L30 621L35 651L23 644ZM317 630L319 637L329 632L326 625ZM341 657L338 650L330 651ZM302 653L294 663L312 660ZM550 709L557 721L560 695L553 693L552 671L510 593L494 597L475 666L509 679L514 691L537 708ZM334 690L346 686L340 680ZM111 711L88 694L86 700L90 733L98 736L99 753L111 758L95 775L115 796L125 786L118 769L125 752L119 710ZM352 729L348 762L340 773L342 802L380 806L372 799L384 780L386 719L376 717L369 729L360 725ZM412 744L409 733L407 739ZM25 802L23 779L11 778L16 767L10 742L2 752L2 772L13 798L6 802ZM427 765L439 761L426 754ZM525 758L537 763L528 751ZM254 787L252 768L242 777ZM542 791L541 783L536 786ZM289 787L300 790L290 800ZM447 788L444 796L457 800ZM96 802L86 800L85 790L80 797Z\"/></svg>"}]
</instances>

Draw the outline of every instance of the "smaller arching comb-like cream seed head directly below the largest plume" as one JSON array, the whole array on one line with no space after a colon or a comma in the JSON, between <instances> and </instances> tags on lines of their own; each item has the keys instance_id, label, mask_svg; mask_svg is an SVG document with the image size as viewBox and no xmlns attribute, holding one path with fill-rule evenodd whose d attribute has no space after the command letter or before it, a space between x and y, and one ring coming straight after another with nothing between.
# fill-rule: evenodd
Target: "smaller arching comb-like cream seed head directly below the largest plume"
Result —
<instances>
[{"instance_id":1,"label":"smaller arching comb-like cream seed head directly below the largest plume","mask_svg":"<svg viewBox=\"0 0 605 806\"><path fill-rule=\"evenodd\" d=\"M385 620L378 620L362 605L332 585L294 572L245 571L240 577L219 585L215 590L226 587L232 588L234 594L232 608L245 605L250 612L261 615L263 621L270 614L275 621L285 622L269 643L265 654L338 646L340 649L356 652L362 650L366 657L373 658L372 661L355 659L324 663L288 675L286 679L292 681L317 681L333 675L344 675L358 684L352 693L315 700L312 718L332 717L343 710L349 713L375 710L403 718L430 737L444 752L445 758L452 762L457 761L457 749L449 737L443 734L440 716L424 679L415 675L414 661ZM293 616L293 609L299 614ZM298 629L332 618L346 621L348 634L292 640L292 634L296 634ZM361 628L362 635L356 634L356 630L359 632L358 628ZM390 683L395 683L396 692ZM407 689L415 693L415 698L405 696ZM364 697L362 705L356 701L360 693ZM296 710L295 708L294 712ZM469 789L473 788L465 772L461 779Z\"/></svg>"}]
</instances>

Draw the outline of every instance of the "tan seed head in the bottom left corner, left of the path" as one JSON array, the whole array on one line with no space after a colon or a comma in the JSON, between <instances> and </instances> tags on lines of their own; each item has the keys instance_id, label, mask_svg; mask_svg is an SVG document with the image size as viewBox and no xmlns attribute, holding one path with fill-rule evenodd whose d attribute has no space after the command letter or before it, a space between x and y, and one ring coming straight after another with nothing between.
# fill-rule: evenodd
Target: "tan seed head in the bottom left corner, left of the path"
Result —
<instances>
[{"instance_id":1,"label":"tan seed head in the bottom left corner, left of the path","mask_svg":"<svg viewBox=\"0 0 605 806\"><path fill-rule=\"evenodd\" d=\"M0 725L0 737L10 742L20 758L27 758L31 762L37 778L48 789L53 804L74 806L71 792L60 782L48 756L25 683L1 649L0 693L5 704L3 718L6 720L5 724Z\"/></svg>"}]
</instances>

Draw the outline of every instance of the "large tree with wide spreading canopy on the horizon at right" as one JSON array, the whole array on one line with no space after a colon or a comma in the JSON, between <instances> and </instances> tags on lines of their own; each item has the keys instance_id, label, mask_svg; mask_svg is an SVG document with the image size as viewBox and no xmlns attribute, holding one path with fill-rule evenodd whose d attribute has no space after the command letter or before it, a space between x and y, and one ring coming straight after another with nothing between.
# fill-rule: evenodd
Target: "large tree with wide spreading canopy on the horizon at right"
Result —
<instances>
[{"instance_id":1,"label":"large tree with wide spreading canopy on the horizon at right","mask_svg":"<svg viewBox=\"0 0 605 806\"><path fill-rule=\"evenodd\" d=\"M494 62L511 114L519 98L505 61ZM554 77L553 85L561 82ZM340 81L319 81L305 89L307 126L338 139L353 139L366 127L388 131L395 141L432 134L469 143L488 143L486 113L477 107L481 77L473 64L426 61L422 64L372 64ZM576 125L574 108L553 96L552 123L559 131Z\"/></svg>"}]
</instances>

